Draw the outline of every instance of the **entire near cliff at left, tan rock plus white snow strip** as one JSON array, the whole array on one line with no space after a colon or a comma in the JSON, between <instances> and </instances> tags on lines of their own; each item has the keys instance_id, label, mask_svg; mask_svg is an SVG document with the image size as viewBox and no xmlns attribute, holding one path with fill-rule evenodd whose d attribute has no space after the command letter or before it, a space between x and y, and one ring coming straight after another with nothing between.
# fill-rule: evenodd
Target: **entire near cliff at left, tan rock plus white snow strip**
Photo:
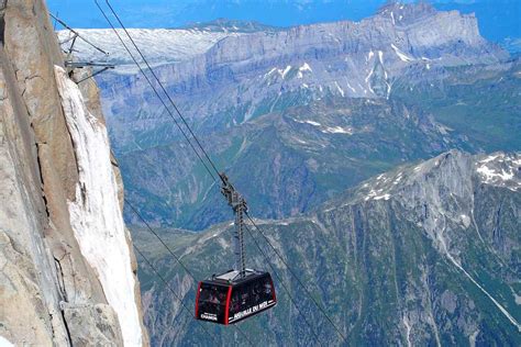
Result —
<instances>
[{"instance_id":1,"label":"entire near cliff at left, tan rock plus white snow strip","mask_svg":"<svg viewBox=\"0 0 521 347\"><path fill-rule=\"evenodd\" d=\"M2 342L146 345L97 86L65 69L43 1L0 5Z\"/></svg>"}]
</instances>

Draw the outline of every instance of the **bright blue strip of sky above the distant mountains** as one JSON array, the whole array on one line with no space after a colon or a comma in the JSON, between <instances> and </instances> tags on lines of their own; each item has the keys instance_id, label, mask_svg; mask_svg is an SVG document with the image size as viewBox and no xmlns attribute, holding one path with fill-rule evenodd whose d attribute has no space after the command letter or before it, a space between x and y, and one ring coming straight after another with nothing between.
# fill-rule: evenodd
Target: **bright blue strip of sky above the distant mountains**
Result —
<instances>
[{"instance_id":1,"label":"bright blue strip of sky above the distant mountains","mask_svg":"<svg viewBox=\"0 0 521 347\"><path fill-rule=\"evenodd\" d=\"M98 0L104 3L104 0ZM432 0L442 10L475 12L481 34L501 42L521 37L521 0ZM130 27L175 27L218 18L290 26L372 15L387 0L111 0ZM406 2L412 2L407 0ZM47 0L74 27L107 27L93 0Z\"/></svg>"}]
</instances>

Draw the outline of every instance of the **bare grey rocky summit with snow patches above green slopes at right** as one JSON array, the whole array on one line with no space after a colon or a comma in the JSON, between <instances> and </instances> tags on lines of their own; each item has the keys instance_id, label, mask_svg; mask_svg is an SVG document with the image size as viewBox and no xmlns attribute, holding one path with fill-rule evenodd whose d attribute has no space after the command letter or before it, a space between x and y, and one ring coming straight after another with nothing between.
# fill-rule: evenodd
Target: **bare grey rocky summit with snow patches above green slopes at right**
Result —
<instances>
[{"instance_id":1,"label":"bare grey rocky summit with snow patches above green slopes at right","mask_svg":"<svg viewBox=\"0 0 521 347\"><path fill-rule=\"evenodd\" d=\"M418 165L407 165L359 186L350 203L398 203L441 253L454 246L457 225L475 221L478 192L521 187L521 154L470 155L450 150Z\"/></svg>"}]
</instances>

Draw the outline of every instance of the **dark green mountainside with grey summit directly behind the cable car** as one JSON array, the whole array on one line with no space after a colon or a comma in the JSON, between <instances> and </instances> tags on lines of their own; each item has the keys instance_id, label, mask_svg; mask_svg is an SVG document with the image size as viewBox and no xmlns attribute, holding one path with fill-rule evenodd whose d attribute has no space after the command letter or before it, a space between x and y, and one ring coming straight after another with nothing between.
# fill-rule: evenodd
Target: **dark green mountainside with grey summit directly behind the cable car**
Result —
<instances>
[{"instance_id":1,"label":"dark green mountainside with grey summit directly behind the cable car","mask_svg":"<svg viewBox=\"0 0 521 347\"><path fill-rule=\"evenodd\" d=\"M519 153L453 150L374 177L313 213L258 221L345 343L254 231L246 237L248 266L270 270L266 262L274 265L324 345L516 346L521 342L520 189ZM135 235L148 243L170 286L192 302L190 278L171 267L145 232ZM228 224L199 235L163 235L199 278L233 264L222 256L232 254ZM275 286L278 305L241 328L268 345L313 343L280 281ZM144 282L144 300L154 343L182 346L206 337L153 279ZM231 332L218 338L242 342Z\"/></svg>"}]
</instances>

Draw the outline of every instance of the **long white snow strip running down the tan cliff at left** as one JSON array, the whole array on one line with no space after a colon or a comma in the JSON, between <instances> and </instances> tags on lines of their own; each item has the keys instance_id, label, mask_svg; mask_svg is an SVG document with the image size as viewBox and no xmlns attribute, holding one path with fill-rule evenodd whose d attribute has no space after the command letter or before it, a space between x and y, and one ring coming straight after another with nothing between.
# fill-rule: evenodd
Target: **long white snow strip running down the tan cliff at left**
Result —
<instances>
[{"instance_id":1,"label":"long white snow strip running down the tan cliff at left","mask_svg":"<svg viewBox=\"0 0 521 347\"><path fill-rule=\"evenodd\" d=\"M141 346L135 281L107 128L88 112L67 72L56 66L55 76L79 171L76 201L68 204L75 237L118 314L125 345Z\"/></svg>"}]
</instances>

